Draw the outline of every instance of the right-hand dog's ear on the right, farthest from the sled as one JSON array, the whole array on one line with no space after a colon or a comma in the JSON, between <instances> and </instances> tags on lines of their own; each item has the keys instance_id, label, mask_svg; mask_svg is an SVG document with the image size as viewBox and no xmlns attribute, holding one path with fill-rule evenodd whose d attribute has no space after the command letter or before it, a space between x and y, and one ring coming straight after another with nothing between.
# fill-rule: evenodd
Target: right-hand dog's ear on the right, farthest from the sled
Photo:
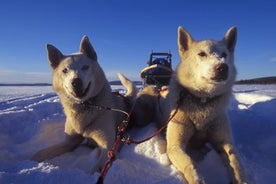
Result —
<instances>
[{"instance_id":1,"label":"right-hand dog's ear on the right, farthest from the sled","mask_svg":"<svg viewBox=\"0 0 276 184\"><path fill-rule=\"evenodd\" d=\"M226 44L230 52L234 52L237 42L237 27L233 26L226 32L223 42Z\"/></svg>"}]
</instances>

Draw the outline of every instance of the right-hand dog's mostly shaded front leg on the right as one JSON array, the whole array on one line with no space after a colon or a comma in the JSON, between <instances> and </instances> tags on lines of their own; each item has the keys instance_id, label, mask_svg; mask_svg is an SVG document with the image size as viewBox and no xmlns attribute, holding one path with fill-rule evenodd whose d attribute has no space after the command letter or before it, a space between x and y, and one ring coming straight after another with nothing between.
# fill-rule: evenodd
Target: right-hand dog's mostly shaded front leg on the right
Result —
<instances>
[{"instance_id":1,"label":"right-hand dog's mostly shaded front leg on the right","mask_svg":"<svg viewBox=\"0 0 276 184\"><path fill-rule=\"evenodd\" d=\"M213 127L210 142L222 156L223 161L228 168L229 175L232 178L232 183L248 183L238 153L233 144L231 130L228 126L227 119L226 117L223 117L222 120L223 121L219 120L220 122L217 123L217 126Z\"/></svg>"}]
</instances>

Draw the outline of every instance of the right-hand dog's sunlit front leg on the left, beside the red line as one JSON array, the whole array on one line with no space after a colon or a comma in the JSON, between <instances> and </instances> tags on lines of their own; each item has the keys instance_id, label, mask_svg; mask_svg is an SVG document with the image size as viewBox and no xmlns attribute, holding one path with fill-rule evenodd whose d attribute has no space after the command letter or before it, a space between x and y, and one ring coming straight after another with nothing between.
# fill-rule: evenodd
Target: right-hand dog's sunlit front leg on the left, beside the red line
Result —
<instances>
[{"instance_id":1,"label":"right-hand dog's sunlit front leg on the left, beside the red line","mask_svg":"<svg viewBox=\"0 0 276 184\"><path fill-rule=\"evenodd\" d=\"M185 151L194 132L194 126L190 121L171 121L167 129L167 155L188 183L201 184L205 182L198 174L192 158Z\"/></svg>"}]
</instances>

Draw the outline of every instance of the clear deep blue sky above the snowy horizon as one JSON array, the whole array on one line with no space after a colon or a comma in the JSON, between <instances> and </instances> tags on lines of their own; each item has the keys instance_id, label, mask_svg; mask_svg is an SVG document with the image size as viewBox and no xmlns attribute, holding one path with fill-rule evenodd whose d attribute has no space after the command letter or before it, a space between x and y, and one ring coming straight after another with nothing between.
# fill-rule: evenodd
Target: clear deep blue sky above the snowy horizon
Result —
<instances>
[{"instance_id":1,"label":"clear deep blue sky above the snowy horizon","mask_svg":"<svg viewBox=\"0 0 276 184\"><path fill-rule=\"evenodd\" d=\"M236 25L237 79L276 75L276 1L9 0L0 3L0 83L51 82L45 45L78 51L88 35L109 80L140 80L151 51L179 62L177 28L221 39Z\"/></svg>"}]
</instances>

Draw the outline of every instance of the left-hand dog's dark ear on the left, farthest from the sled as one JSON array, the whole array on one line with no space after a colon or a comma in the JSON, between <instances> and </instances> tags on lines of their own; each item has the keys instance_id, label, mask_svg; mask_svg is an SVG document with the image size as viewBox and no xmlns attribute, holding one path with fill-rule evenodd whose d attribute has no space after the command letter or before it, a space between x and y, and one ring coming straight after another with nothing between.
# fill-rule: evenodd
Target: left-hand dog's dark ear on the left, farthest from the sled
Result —
<instances>
[{"instance_id":1,"label":"left-hand dog's dark ear on the left, farthest from the sled","mask_svg":"<svg viewBox=\"0 0 276 184\"><path fill-rule=\"evenodd\" d=\"M61 59L64 57L63 54L53 45L47 44L46 45L47 51L48 51L48 60L50 62L50 66L52 69L55 69Z\"/></svg>"}]
</instances>

